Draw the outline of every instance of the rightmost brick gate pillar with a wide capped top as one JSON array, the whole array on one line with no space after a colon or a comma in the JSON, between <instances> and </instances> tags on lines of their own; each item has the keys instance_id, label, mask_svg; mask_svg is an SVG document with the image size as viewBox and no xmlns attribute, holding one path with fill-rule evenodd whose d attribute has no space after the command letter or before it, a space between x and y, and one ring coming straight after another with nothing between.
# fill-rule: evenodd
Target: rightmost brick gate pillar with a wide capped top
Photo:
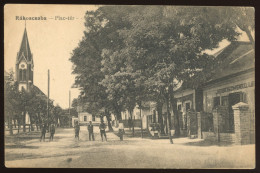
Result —
<instances>
[{"instance_id":1,"label":"rightmost brick gate pillar with a wide capped top","mask_svg":"<svg viewBox=\"0 0 260 173\"><path fill-rule=\"evenodd\" d=\"M250 111L249 105L239 102L232 106L234 110L235 143L250 143Z\"/></svg>"}]
</instances>

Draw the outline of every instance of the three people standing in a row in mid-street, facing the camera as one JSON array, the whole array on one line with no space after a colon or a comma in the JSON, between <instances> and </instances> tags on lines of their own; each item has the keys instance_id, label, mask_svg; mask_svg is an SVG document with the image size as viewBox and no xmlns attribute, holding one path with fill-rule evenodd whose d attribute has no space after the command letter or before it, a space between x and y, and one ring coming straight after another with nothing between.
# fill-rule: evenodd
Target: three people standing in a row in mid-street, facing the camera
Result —
<instances>
[{"instance_id":1,"label":"three people standing in a row in mid-street, facing the camera","mask_svg":"<svg viewBox=\"0 0 260 173\"><path fill-rule=\"evenodd\" d=\"M78 122L75 123L74 126L75 129L75 138L77 138L79 140L79 132L80 132L80 125ZM95 136L94 136L94 126L92 124L91 121L89 121L88 124L88 135L89 135L89 140L93 140L95 141ZM105 140L107 141L107 135L106 135L106 124L104 123L104 121L101 121L100 125L99 125L99 130L100 130L100 135L101 135L101 139L102 142Z\"/></svg>"}]
</instances>

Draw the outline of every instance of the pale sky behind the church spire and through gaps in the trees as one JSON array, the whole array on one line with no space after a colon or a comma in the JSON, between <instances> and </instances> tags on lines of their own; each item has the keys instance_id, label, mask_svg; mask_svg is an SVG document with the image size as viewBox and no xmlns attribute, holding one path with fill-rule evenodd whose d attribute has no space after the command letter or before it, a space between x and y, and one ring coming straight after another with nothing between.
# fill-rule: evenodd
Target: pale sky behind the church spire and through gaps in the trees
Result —
<instances>
[{"instance_id":1,"label":"pale sky behind the church spire and through gaps in the trees","mask_svg":"<svg viewBox=\"0 0 260 173\"><path fill-rule=\"evenodd\" d=\"M79 90L71 88L75 76L73 64L69 61L71 53L83 37L84 15L86 11L96 10L97 5L15 5L4 7L4 68L15 71L16 55L19 51L25 20L16 20L17 16L46 17L47 20L27 20L26 29L34 60L34 85L47 94L47 72L50 70L50 98L62 108L69 107L77 98ZM74 20L55 20L61 17L73 17ZM245 33L243 41L248 38ZM228 41L220 43L219 49L227 46ZM207 50L209 54L218 51Z\"/></svg>"}]
</instances>

